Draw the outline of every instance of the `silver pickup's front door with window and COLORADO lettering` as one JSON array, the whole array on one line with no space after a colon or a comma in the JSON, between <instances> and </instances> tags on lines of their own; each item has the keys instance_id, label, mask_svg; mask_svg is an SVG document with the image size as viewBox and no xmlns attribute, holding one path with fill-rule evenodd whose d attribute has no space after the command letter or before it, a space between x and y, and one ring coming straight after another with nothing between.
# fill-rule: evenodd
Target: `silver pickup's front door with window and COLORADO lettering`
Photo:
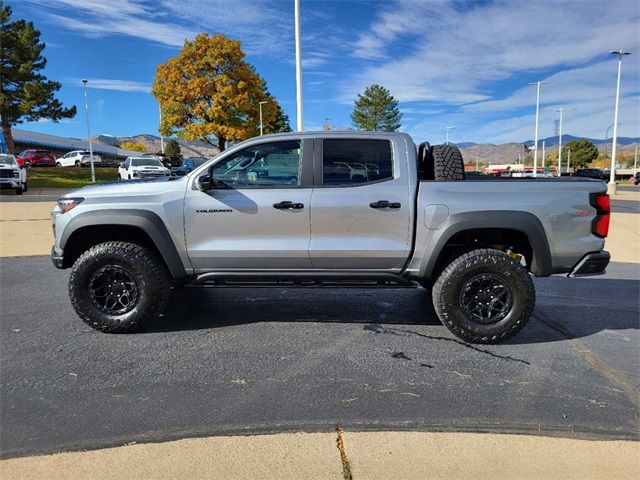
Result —
<instances>
[{"instance_id":1,"label":"silver pickup's front door with window and COLORADO lettering","mask_svg":"<svg viewBox=\"0 0 640 480\"><path fill-rule=\"evenodd\" d=\"M302 166L312 155L312 141L300 139L221 155L209 170L212 188L185 197L187 251L197 273L311 267L312 189Z\"/></svg>"}]
</instances>

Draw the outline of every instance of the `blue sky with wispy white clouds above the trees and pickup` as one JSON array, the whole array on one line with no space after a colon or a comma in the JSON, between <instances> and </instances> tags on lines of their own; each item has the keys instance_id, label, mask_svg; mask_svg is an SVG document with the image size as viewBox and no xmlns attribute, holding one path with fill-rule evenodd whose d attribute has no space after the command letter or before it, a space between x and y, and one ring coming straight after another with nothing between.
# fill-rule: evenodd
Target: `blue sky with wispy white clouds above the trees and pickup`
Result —
<instances>
[{"instance_id":1,"label":"blue sky with wispy white clouds above the trees and pickup","mask_svg":"<svg viewBox=\"0 0 640 480\"><path fill-rule=\"evenodd\" d=\"M79 114L25 123L86 137L82 86L91 89L92 134L157 134L149 89L157 64L199 32L240 39L295 129L293 0L9 0L47 43L45 74ZM522 142L533 138L536 80L543 85L540 138L565 132L603 138L613 122L624 48L620 136L640 136L640 2L301 1L304 127L351 126L358 92L372 83L400 101L402 131L416 141Z\"/></svg>"}]
</instances>

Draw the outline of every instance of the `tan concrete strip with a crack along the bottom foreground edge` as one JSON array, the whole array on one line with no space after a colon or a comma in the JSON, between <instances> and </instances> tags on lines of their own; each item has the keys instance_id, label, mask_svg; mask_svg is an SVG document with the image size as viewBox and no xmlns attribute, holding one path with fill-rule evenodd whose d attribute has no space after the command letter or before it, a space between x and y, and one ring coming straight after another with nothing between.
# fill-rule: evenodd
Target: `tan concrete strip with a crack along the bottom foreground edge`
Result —
<instances>
[{"instance_id":1,"label":"tan concrete strip with a crack along the bottom foreground edge","mask_svg":"<svg viewBox=\"0 0 640 480\"><path fill-rule=\"evenodd\" d=\"M0 476L210 479L636 478L640 443L424 432L210 437L0 462ZM635 473L634 473L635 472Z\"/></svg>"}]
</instances>

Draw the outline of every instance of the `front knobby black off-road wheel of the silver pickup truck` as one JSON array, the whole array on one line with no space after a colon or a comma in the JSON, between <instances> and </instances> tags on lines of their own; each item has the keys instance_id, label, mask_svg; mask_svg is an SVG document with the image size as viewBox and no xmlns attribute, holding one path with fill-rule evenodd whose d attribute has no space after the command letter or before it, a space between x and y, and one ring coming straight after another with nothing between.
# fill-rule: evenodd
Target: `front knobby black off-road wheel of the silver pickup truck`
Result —
<instances>
[{"instance_id":1,"label":"front knobby black off-road wheel of the silver pickup truck","mask_svg":"<svg viewBox=\"0 0 640 480\"><path fill-rule=\"evenodd\" d=\"M155 252L133 243L105 242L74 263L69 296L76 313L106 333L138 330L169 301L170 278Z\"/></svg>"}]
</instances>

